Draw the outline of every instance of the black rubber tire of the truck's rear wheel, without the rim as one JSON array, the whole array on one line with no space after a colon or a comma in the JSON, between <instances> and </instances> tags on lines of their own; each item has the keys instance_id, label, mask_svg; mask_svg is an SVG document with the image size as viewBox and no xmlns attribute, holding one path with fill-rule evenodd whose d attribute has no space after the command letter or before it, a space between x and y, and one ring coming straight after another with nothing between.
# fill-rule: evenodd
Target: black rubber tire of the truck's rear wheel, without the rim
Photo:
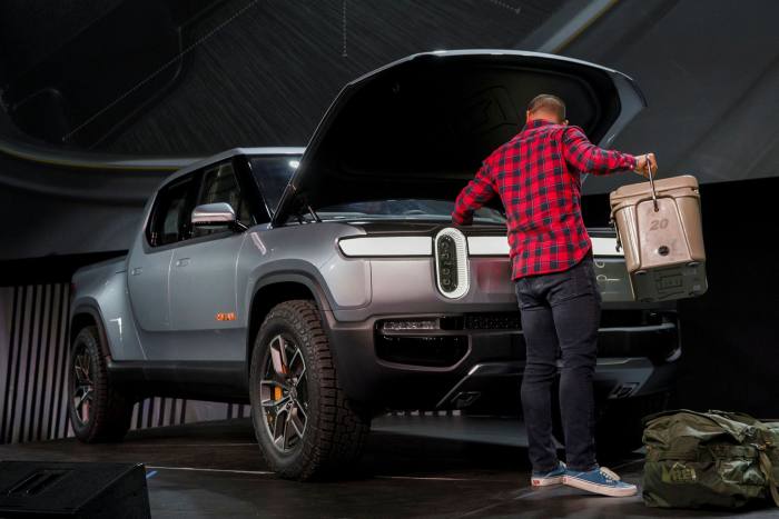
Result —
<instances>
[{"instance_id":1,"label":"black rubber tire of the truck's rear wheel, without the rim","mask_svg":"<svg viewBox=\"0 0 779 519\"><path fill-rule=\"evenodd\" d=\"M82 328L72 341L68 363L68 413L76 438L86 443L120 441L130 428L132 399L111 385L106 356L100 345L97 327ZM89 356L90 376L93 387L89 418L83 422L77 415L73 401L76 358Z\"/></svg>"}]
</instances>

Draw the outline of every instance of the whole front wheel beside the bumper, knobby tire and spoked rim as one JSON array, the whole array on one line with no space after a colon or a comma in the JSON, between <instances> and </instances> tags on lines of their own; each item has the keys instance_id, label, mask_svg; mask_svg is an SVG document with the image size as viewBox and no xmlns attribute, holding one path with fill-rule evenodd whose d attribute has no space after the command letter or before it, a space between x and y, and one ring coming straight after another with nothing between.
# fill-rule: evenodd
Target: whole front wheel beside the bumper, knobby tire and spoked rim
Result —
<instances>
[{"instance_id":1,"label":"whole front wheel beside the bumper, knobby tire and spoked rim","mask_svg":"<svg viewBox=\"0 0 779 519\"><path fill-rule=\"evenodd\" d=\"M338 385L313 301L286 301L268 312L255 339L249 386L260 451L280 477L332 476L358 460L371 419Z\"/></svg>"}]
</instances>

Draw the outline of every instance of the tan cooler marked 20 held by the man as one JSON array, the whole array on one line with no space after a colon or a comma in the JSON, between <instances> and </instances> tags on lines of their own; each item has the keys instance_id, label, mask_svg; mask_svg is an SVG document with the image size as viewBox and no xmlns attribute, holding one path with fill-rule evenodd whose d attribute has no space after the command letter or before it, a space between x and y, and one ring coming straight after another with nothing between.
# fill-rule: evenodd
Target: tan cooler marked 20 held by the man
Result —
<instances>
[{"instance_id":1,"label":"tan cooler marked 20 held by the man","mask_svg":"<svg viewBox=\"0 0 779 519\"><path fill-rule=\"evenodd\" d=\"M667 301L708 289L698 180L689 174L623 186L611 219L624 249L633 298Z\"/></svg>"}]
</instances>

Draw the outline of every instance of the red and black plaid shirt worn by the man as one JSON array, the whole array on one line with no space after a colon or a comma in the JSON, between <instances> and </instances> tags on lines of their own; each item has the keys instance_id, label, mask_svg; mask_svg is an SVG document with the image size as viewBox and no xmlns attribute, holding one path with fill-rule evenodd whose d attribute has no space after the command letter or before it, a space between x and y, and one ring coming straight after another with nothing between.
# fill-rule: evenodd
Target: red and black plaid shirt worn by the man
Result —
<instances>
[{"instance_id":1,"label":"red and black plaid shirt worn by the man","mask_svg":"<svg viewBox=\"0 0 779 519\"><path fill-rule=\"evenodd\" d=\"M457 197L455 224L495 194L506 210L512 278L558 272L592 247L581 213L581 173L632 170L635 158L594 146L579 127L534 120L487 157Z\"/></svg>"}]
</instances>

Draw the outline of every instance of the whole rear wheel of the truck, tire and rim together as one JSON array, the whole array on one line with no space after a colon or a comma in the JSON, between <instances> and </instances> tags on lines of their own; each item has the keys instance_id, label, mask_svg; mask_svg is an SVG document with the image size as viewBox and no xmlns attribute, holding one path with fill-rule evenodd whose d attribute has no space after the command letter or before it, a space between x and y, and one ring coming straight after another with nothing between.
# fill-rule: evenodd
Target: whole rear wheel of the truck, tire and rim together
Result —
<instances>
[{"instance_id":1,"label":"whole rear wheel of the truck, tire and rim together","mask_svg":"<svg viewBox=\"0 0 779 519\"><path fill-rule=\"evenodd\" d=\"M68 412L76 438L119 441L130 428L132 400L111 386L98 329L85 327L70 348Z\"/></svg>"}]
</instances>

